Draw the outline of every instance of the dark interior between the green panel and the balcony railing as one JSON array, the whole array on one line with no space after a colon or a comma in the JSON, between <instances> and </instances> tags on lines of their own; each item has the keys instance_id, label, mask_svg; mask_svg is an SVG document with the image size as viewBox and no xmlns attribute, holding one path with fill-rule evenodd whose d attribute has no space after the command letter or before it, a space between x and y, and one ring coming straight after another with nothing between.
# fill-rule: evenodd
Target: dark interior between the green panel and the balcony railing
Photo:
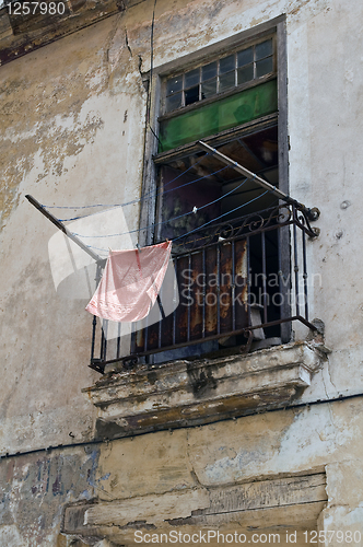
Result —
<instances>
[{"instance_id":1,"label":"dark interior between the green panel and the balcony railing","mask_svg":"<svg viewBox=\"0 0 363 547\"><path fill-rule=\"evenodd\" d=\"M219 146L218 150L272 185L279 185L277 126L232 140ZM184 172L187 173L183 174ZM264 194L264 190L256 183L247 182L233 191L242 182L241 174L232 167L225 167L220 160L203 151L169 160L160 167L163 193L160 221L180 217L194 207L197 207L197 212L162 224L159 240L182 236L238 207L241 209L224 216L223 221L267 209L276 202L276 198L267 195L246 205ZM203 207L221 197L215 203Z\"/></svg>"}]
</instances>

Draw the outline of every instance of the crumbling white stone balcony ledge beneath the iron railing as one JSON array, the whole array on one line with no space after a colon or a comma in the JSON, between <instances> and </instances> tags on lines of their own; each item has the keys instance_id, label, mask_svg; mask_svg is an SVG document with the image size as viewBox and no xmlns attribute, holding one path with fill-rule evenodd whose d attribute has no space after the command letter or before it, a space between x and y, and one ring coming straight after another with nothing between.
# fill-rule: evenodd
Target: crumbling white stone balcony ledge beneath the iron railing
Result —
<instances>
[{"instance_id":1,"label":"crumbling white stone balcony ledge beneath the iron railing","mask_svg":"<svg viewBox=\"0 0 363 547\"><path fill-rule=\"evenodd\" d=\"M98 410L96 437L116 439L285 406L311 385L321 360L316 347L295 342L114 373L83 393Z\"/></svg>"}]
</instances>

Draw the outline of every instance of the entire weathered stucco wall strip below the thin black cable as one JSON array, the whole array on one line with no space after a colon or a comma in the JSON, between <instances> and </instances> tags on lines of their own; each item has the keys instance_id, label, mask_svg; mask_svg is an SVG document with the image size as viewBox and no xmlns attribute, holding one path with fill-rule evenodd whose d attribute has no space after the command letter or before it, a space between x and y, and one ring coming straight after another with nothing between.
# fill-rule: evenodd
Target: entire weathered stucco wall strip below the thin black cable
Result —
<instances>
[{"instance_id":1,"label":"entire weathered stucco wall strip below the thin black cable","mask_svg":"<svg viewBox=\"0 0 363 547\"><path fill-rule=\"evenodd\" d=\"M179 492L182 497L196 490L213 492L231 485L243 488L255 480L308 473L326 474L328 501L319 517L319 529L363 534L363 461L356 441L363 433L362 412L362 400L350 399L3 459L1 542L9 547L69 545L73 536L66 539L60 527L65 504L74 501L82 504L97 499L109 504L112 512L118 500L131 503L153 494L159 501L165 492ZM178 516L189 514L188 503L188 498L182 501ZM305 508L291 509L302 537ZM156 532L163 517L175 517L172 508L156 512L156 517L152 514L152 509L145 507L140 519L149 527L143 529L142 523L137 528L125 525L118 533L132 538L134 529L145 533L153 529L150 525L154 522ZM255 524L258 519L256 512ZM165 525L185 532L183 520ZM188 533L200 528L198 522L187 526ZM246 522L239 513L220 528L246 531ZM329 545L341 542L335 538Z\"/></svg>"}]
</instances>

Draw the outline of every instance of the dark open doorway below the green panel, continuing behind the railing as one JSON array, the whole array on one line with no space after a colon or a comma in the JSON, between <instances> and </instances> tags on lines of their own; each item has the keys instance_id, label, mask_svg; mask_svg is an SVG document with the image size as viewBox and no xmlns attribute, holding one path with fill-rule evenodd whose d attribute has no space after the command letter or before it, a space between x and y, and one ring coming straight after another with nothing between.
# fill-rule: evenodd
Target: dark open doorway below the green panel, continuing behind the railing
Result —
<instances>
[{"instance_id":1,"label":"dark open doorway below the green panel, continuing behind the railing","mask_svg":"<svg viewBox=\"0 0 363 547\"><path fill-rule=\"evenodd\" d=\"M213 146L213 144L211 144ZM279 182L279 161L278 161L278 125L271 123L269 127L265 127L259 130L246 132L241 135L236 139L227 140L226 142L215 147L220 152L227 155L232 160L235 160L244 167L256 173L261 178L266 179L268 183L278 186ZM246 181L244 183L244 177L234 171L232 167L226 167L222 172L221 162L214 158L212 154L206 154L200 150L196 150L192 153L185 154L184 156L173 158L173 154L168 160L160 160L162 164L159 166L159 184L160 184L160 200L159 200L159 219L163 222L160 225L160 230L156 234L156 241L164 241L165 238L177 238L192 231L197 230L213 219L223 217L223 224L231 226L237 226L241 222L241 217L246 217L253 214L255 211L267 210L273 205L278 203L276 197L270 194L264 195L264 189L258 186L253 181ZM156 159L157 162L157 159ZM188 170L188 171L187 171ZM182 173L186 172L185 175ZM173 181L177 175L179 178ZM192 184L192 181L199 179L200 177L206 177ZM191 183L191 184L187 184ZM244 184L242 184L244 183ZM185 186L184 186L185 184ZM167 186L167 189L173 187L173 185L178 187L174 191L168 191L163 194L163 187ZM180 187L182 186L182 187ZM225 197L224 197L225 196ZM261 196L261 197L260 197ZM220 200L218 200L221 198ZM255 199L253 203L244 207L245 203ZM206 202L218 200L215 203L200 209ZM195 214L189 214L183 217L177 222L167 222L167 219L173 219L184 212L190 211L197 208ZM241 210L232 211L241 207ZM265 216L269 214L266 212ZM257 219L256 219L257 220ZM165 222L165 223L164 223ZM220 221L222 222L222 221ZM201 230L200 233L197 231L196 238L200 237L208 241L209 236L215 230L215 222ZM223 234L221 234L223 236ZM262 249L262 237L264 237L264 249ZM214 237L212 241L216 241ZM202 243L202 242L201 242ZM197 245L198 246L198 245ZM264 305L264 296L261 293L264 289L267 292L267 300L271 300L273 295L273 290L276 288L270 288L269 286L264 286L264 280L261 276L255 276L257 272L262 272L262 261L265 260L265 276L268 279L273 272L279 270L278 267L278 233L277 231L271 231L268 234L256 234L249 238L248 242L248 259L247 259L247 247L246 240L236 241L232 247L230 245L221 247L221 249L206 248L203 252L196 252L192 255L190 264L187 264L186 258L178 259L179 271L188 271L189 269L192 274L188 274L190 277L196 277L198 279L209 278L209 281L213 284L215 276L220 276L222 286L216 287L200 287L197 288L197 292L206 291L206 294L200 298L199 302L194 302L189 311L192 317L190 326L190 338L202 338L203 330L208 336L218 335L221 331L232 331L238 330L244 326L247 326L248 312L246 311L246 305L241 305L241 303L247 304L246 295L244 293L247 282L247 260L249 263L248 269L250 269L249 276L251 281L250 287L250 298L255 301L256 305L253 306L253 314L256 321L264 323L264 318L260 316L260 310ZM183 243L178 244L178 241L173 246L174 255L177 256L178 253L183 253L185 249ZM233 254L233 256L232 256ZM203 258L204 256L204 258ZM204 261L204 264L203 264ZM235 264L232 265L232 261ZM232 272L233 269L233 272ZM185 276L185 274L184 274ZM256 279L255 279L256 277ZM233 278L236 284L241 287L233 286ZM187 287L190 281L183 279L183 275L178 278L178 284L182 287ZM197 282L198 284L198 282ZM266 283L265 283L266 284ZM216 294L219 289L219 295ZM196 290L196 287L194 287ZM233 310L233 298L232 291L234 290L233 298L237 305ZM184 293L180 299L180 305L176 312L176 323L178 325L179 337L176 335L176 344L182 341L183 338L187 337L187 315L185 310L187 309L187 292ZM202 299L207 299L207 304L213 304L218 298L222 296L224 299L223 306L221 305L202 305ZM230 301L231 305L227 305ZM190 300L191 302L191 300ZM184 306L184 307L183 307ZM238 310L239 306L239 310ZM204 314L204 318L203 318ZM280 310L278 306L270 304L268 305L268 317L267 321L278 321L280 318ZM171 334L173 328L172 318L168 319L169 330L167 329L167 322L165 322L164 336L165 339L169 336L169 342L172 344ZM156 327L154 327L156 330ZM152 336L153 328L150 329L149 336ZM254 334L254 338L276 338L281 342L281 334L279 325L272 326L265 333L259 331ZM223 338L223 337L222 337ZM246 337L243 334L227 336L224 339L214 340L212 344L208 342L204 346L199 346L198 348L189 348L189 356L191 354L202 354L203 352L218 351L223 348L242 346L246 344ZM186 350L183 350L184 357L186 357ZM178 352L175 352L174 358L180 357ZM164 356L159 356L154 362L163 361Z\"/></svg>"}]
</instances>

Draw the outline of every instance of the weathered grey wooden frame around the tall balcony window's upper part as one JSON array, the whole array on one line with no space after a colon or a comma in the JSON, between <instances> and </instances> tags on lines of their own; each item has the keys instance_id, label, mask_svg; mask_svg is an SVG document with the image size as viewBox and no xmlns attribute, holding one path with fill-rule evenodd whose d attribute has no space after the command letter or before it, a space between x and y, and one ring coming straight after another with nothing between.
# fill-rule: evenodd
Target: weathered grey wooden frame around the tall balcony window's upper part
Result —
<instances>
[{"instance_id":1,"label":"weathered grey wooden frame around the tall balcony window's upper part","mask_svg":"<svg viewBox=\"0 0 363 547\"><path fill-rule=\"evenodd\" d=\"M221 58L224 54L227 55L229 51L236 51L238 48L243 48L244 45L247 46L248 43L257 43L259 38L261 40L266 38L269 34L276 34L276 78L278 88L278 143L279 143L279 188L289 194L289 136L288 136L288 56L286 56L286 28L285 28L285 15L282 14L279 18L270 20L266 23L257 25L255 27L248 28L233 35L226 39L218 42L212 46L207 46L200 50L194 51L187 56L179 57L171 62L161 65L160 67L154 67L152 74L149 72L145 74L145 83L150 93L149 110L147 113L145 128L145 139L144 139L144 163L143 163L143 176L142 176L142 195L149 195L148 199L142 200L140 208L139 225L140 226L153 226L156 219L156 196L155 196L155 185L157 183L157 158L161 154L157 153L159 148L159 125L163 115L163 82L165 79L177 71L184 72L188 69L192 69L196 66L201 66L206 63L209 59ZM251 85L258 85L261 83L261 77L257 81L254 81ZM268 75L268 79L271 77ZM250 86L251 86L250 85ZM249 85L248 85L249 86ZM238 93L242 88L237 86L232 92L227 91L220 93L219 95L206 98L202 102L197 102L187 107L183 107L178 110L188 112L189 109L197 108L202 103L215 102L224 96ZM175 110L166 114L175 116ZM261 121L261 120L259 120ZM268 120L267 120L268 121ZM250 123L251 125L254 121ZM239 127L241 129L241 127ZM226 132L233 132L234 129L229 129L220 133L216 138L224 138ZM215 137L215 136L214 136ZM206 139L208 142L208 139ZM175 153L177 151L183 152L184 150L191 148L195 143L188 143L183 147L178 147L172 151L166 152L167 154ZM154 161L156 159L156 162ZM152 229L140 230L139 232L139 243L141 245L153 244L154 231ZM286 242L288 244L288 242ZM289 261L290 257L285 257L284 260ZM289 266L290 269L290 266Z\"/></svg>"}]
</instances>

